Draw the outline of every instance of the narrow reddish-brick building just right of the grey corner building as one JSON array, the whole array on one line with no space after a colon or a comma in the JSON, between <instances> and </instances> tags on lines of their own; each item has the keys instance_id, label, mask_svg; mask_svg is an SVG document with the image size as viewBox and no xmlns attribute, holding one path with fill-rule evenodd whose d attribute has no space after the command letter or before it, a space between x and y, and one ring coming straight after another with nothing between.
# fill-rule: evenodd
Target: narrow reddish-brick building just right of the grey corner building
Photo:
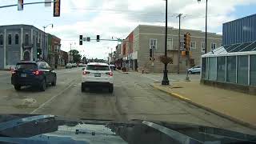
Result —
<instances>
[{"instance_id":1,"label":"narrow reddish-brick building just right of the grey corner building","mask_svg":"<svg viewBox=\"0 0 256 144\"><path fill-rule=\"evenodd\" d=\"M52 35L48 34L48 60L50 66L57 68L61 65L61 39Z\"/></svg>"}]
</instances>

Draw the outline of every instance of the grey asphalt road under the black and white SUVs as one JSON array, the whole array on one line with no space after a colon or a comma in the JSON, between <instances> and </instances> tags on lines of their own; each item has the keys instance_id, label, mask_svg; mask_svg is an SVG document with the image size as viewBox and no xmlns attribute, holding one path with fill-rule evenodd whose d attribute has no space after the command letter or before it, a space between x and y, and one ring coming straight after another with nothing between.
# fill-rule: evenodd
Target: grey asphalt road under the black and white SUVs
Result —
<instances>
[{"instance_id":1,"label":"grey asphalt road under the black and white SUVs","mask_svg":"<svg viewBox=\"0 0 256 144\"><path fill-rule=\"evenodd\" d=\"M255 130L154 90L150 82L160 78L154 74L114 71L113 94L101 89L82 93L81 69L56 70L57 86L49 86L45 92L31 87L15 91L10 85L10 74L0 75L0 113L54 114L72 119L186 122L256 134ZM175 76L176 79L178 77Z\"/></svg>"}]
</instances>

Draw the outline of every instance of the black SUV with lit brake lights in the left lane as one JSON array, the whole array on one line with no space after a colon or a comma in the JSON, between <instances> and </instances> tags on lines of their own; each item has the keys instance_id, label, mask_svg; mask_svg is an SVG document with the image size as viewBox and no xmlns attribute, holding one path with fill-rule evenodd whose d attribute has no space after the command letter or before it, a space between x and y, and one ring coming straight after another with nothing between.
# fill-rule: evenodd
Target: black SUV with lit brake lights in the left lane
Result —
<instances>
[{"instance_id":1,"label":"black SUV with lit brake lights in the left lane","mask_svg":"<svg viewBox=\"0 0 256 144\"><path fill-rule=\"evenodd\" d=\"M11 76L15 90L21 90L21 86L38 86L45 91L48 83L56 86L56 80L56 73L46 62L18 62Z\"/></svg>"}]
</instances>

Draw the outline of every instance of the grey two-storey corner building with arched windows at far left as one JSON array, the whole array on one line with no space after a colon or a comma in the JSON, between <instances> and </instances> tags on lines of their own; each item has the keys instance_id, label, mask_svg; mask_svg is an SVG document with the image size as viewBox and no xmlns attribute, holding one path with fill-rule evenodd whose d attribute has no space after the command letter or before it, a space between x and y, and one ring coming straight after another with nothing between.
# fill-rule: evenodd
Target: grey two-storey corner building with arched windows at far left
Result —
<instances>
[{"instance_id":1,"label":"grey two-storey corner building with arched windows at far left","mask_svg":"<svg viewBox=\"0 0 256 144\"><path fill-rule=\"evenodd\" d=\"M0 69L9 69L20 60L36 60L37 50L40 58L48 56L48 34L30 25L0 26Z\"/></svg>"}]
</instances>

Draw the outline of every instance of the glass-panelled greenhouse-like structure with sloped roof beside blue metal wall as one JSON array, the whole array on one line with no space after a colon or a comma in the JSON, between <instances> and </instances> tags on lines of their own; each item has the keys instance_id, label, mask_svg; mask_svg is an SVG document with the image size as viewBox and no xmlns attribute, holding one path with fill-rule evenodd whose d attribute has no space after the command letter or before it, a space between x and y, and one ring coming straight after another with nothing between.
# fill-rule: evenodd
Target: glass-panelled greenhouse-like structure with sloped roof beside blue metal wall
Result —
<instances>
[{"instance_id":1,"label":"glass-panelled greenhouse-like structure with sloped roof beside blue metal wall","mask_svg":"<svg viewBox=\"0 0 256 144\"><path fill-rule=\"evenodd\" d=\"M222 46L202 55L203 81L256 86L256 42Z\"/></svg>"}]
</instances>

